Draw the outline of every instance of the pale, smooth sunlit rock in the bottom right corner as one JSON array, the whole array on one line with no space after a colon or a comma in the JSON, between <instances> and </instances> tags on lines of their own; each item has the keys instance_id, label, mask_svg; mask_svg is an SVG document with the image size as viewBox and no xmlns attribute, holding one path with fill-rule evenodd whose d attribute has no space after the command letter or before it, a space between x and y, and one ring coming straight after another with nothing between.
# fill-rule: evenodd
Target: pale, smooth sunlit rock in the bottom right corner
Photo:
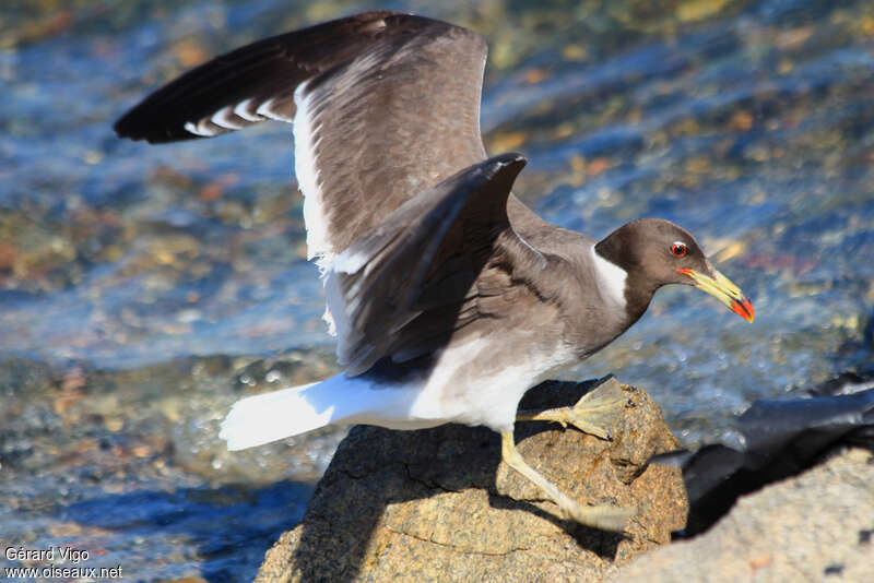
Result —
<instances>
[{"instance_id":1,"label":"pale, smooth sunlit rock in the bottom right corner","mask_svg":"<svg viewBox=\"0 0 874 583\"><path fill-rule=\"evenodd\" d=\"M850 450L742 498L707 533L635 560L611 581L874 581L874 456ZM701 560L706 558L706 560Z\"/></svg>"}]
</instances>

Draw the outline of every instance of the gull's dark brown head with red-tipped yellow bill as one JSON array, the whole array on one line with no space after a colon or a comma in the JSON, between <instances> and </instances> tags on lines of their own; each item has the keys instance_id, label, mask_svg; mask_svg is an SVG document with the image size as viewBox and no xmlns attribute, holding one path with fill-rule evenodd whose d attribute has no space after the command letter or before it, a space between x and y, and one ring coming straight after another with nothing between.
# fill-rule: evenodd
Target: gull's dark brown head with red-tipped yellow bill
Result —
<instances>
[{"instance_id":1,"label":"gull's dark brown head with red-tipped yellow bill","mask_svg":"<svg viewBox=\"0 0 874 583\"><path fill-rule=\"evenodd\" d=\"M640 218L623 225L595 245L595 253L624 270L628 289L646 297L668 284L697 287L752 322L753 304L719 273L686 229L661 218Z\"/></svg>"}]
</instances>

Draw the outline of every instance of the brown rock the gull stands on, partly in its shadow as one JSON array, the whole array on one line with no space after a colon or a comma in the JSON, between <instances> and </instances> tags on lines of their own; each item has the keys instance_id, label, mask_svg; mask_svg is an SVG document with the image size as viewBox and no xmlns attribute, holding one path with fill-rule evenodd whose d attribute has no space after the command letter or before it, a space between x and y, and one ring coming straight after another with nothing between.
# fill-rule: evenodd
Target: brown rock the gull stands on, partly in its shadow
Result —
<instances>
[{"instance_id":1,"label":"brown rock the gull stands on, partly in its shadow","mask_svg":"<svg viewBox=\"0 0 874 583\"><path fill-rule=\"evenodd\" d=\"M591 386L547 383L521 407L569 405ZM602 580L670 542L687 510L680 472L646 465L677 444L661 411L642 391L622 390L628 402L613 441L545 423L517 424L516 438L525 460L572 498L636 505L626 536L558 520L553 503L499 463L500 440L488 429L356 427L257 581Z\"/></svg>"}]
</instances>

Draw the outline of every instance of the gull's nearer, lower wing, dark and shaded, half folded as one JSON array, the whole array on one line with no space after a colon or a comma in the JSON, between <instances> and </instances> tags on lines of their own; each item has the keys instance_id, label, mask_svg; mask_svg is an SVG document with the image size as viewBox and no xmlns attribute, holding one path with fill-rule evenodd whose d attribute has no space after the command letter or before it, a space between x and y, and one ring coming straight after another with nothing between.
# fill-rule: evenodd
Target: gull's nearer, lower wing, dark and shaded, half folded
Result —
<instances>
[{"instance_id":1,"label":"gull's nearer, lower wing, dark and shaded, half folded","mask_svg":"<svg viewBox=\"0 0 874 583\"><path fill-rule=\"evenodd\" d=\"M498 317L516 287L536 279L552 258L507 218L524 164L504 154L470 166L410 198L336 258L326 288L347 374L386 356L432 353L472 322Z\"/></svg>"}]
</instances>

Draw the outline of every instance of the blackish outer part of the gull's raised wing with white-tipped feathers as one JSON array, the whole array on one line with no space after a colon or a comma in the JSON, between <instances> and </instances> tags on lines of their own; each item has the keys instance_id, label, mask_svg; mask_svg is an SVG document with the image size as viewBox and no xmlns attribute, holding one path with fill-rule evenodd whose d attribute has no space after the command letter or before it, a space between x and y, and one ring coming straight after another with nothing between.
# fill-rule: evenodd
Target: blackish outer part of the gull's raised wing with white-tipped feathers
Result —
<instances>
[{"instance_id":1,"label":"blackish outer part of the gull's raised wing with white-tipped feathers","mask_svg":"<svg viewBox=\"0 0 874 583\"><path fill-rule=\"evenodd\" d=\"M295 88L364 52L385 36L385 19L393 15L400 14L366 12L216 57L143 99L115 130L155 144L212 138L267 119L291 122Z\"/></svg>"}]
</instances>

